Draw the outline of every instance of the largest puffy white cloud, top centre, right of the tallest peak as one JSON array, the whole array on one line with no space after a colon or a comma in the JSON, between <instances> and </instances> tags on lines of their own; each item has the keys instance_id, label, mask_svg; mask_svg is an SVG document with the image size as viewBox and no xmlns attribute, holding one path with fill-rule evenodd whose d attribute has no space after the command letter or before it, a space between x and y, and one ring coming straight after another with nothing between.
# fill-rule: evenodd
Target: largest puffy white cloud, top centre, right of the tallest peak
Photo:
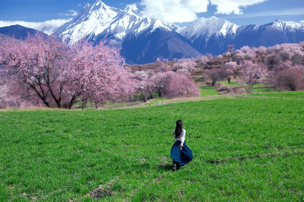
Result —
<instances>
[{"instance_id":1,"label":"largest puffy white cloud, top centre, right of the tallest peak","mask_svg":"<svg viewBox=\"0 0 304 202\"><path fill-rule=\"evenodd\" d=\"M209 0L141 0L143 14L168 22L192 22L206 12Z\"/></svg>"}]
</instances>

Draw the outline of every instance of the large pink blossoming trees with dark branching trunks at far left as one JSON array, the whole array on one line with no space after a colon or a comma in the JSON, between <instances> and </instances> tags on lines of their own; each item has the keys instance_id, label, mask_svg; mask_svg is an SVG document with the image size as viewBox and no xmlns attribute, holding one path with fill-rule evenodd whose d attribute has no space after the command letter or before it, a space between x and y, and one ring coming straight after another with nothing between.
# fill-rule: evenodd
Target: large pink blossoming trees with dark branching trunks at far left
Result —
<instances>
[{"instance_id":1,"label":"large pink blossoming trees with dark branching trunks at far left","mask_svg":"<svg viewBox=\"0 0 304 202\"><path fill-rule=\"evenodd\" d=\"M47 107L115 101L136 90L119 49L102 43L93 46L80 40L69 45L36 33L24 41L2 41L0 64L0 79L15 96L39 99Z\"/></svg>"}]
</instances>

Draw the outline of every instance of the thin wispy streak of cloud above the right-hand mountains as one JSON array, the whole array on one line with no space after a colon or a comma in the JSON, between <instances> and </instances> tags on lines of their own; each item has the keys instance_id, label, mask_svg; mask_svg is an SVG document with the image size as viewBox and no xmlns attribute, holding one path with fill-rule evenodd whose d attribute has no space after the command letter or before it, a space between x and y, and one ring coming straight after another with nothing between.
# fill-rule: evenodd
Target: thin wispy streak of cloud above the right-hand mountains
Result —
<instances>
[{"instance_id":1,"label":"thin wispy streak of cloud above the right-hand mountains","mask_svg":"<svg viewBox=\"0 0 304 202\"><path fill-rule=\"evenodd\" d=\"M304 7L285 9L281 11L261 11L261 12L250 12L244 13L243 15L231 15L225 18L253 18L253 17L264 17L264 16L278 16L278 15L304 15Z\"/></svg>"}]
</instances>

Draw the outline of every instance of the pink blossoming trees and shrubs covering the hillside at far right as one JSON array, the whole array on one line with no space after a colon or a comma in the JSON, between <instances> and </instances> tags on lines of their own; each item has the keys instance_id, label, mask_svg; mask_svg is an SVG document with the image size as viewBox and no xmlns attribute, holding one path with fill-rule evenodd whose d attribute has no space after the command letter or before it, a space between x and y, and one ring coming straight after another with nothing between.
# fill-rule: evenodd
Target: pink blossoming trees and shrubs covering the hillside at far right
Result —
<instances>
[{"instance_id":1,"label":"pink blossoming trees and shrubs covering the hillside at far right","mask_svg":"<svg viewBox=\"0 0 304 202\"><path fill-rule=\"evenodd\" d=\"M227 79L230 83L231 76L237 73L238 83L244 86L247 92L251 92L253 85L261 83L268 75L269 69L270 76L266 83L272 87L289 91L304 89L304 42L278 44L267 48L250 48L246 45L239 50L228 45L227 51L215 59L209 59L209 66L221 65L206 72L212 86L222 79Z\"/></svg>"}]
</instances>

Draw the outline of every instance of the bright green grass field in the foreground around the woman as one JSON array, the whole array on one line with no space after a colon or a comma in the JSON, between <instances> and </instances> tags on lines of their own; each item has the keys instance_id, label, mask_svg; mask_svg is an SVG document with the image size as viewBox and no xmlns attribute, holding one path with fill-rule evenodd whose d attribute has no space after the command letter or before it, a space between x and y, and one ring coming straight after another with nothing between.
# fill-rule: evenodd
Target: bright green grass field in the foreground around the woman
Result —
<instances>
[{"instance_id":1,"label":"bright green grass field in the foreground around the woman","mask_svg":"<svg viewBox=\"0 0 304 202\"><path fill-rule=\"evenodd\" d=\"M2 110L0 201L92 201L99 185L104 197L93 201L303 201L303 106L244 96ZM193 160L171 172L177 119Z\"/></svg>"}]
</instances>

